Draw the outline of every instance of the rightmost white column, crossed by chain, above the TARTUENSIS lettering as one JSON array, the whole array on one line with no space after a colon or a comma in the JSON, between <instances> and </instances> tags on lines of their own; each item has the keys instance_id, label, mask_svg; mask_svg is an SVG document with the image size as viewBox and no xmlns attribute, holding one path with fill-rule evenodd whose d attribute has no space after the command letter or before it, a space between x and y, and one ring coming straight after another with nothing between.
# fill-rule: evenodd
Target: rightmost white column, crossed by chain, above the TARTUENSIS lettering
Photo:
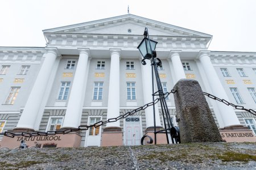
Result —
<instances>
[{"instance_id":1,"label":"rightmost white column, crossed by chain, above the TARTUENSIS lettering","mask_svg":"<svg viewBox=\"0 0 256 170\"><path fill-rule=\"evenodd\" d=\"M228 95L226 95L224 87L222 86L220 79L218 78L212 62L210 62L210 57L208 56L207 52L201 52L199 59L203 65L204 72L207 75L210 88L213 92L212 95L217 96L220 99L225 99L229 101ZM224 103L217 103L217 107L221 113L222 121L224 122L225 127L240 125L240 122L232 107L225 105Z\"/></svg>"}]
</instances>

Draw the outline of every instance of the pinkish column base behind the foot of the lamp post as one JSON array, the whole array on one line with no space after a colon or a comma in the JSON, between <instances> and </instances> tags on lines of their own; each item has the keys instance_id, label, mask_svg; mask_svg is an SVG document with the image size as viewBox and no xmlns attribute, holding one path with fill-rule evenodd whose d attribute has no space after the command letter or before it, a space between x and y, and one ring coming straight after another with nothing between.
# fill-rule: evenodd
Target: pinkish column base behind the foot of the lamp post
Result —
<instances>
[{"instance_id":1,"label":"pinkish column base behind the foot of the lamp post","mask_svg":"<svg viewBox=\"0 0 256 170\"><path fill-rule=\"evenodd\" d=\"M158 130L163 130L162 126L156 126L156 131ZM146 145L154 145L155 144L155 134L154 134L154 126L150 126L145 130L145 134L148 135L153 139L152 144L148 144L147 142ZM167 139L166 139L166 134L165 133L158 133L156 134L156 144L167 144Z\"/></svg>"}]
</instances>

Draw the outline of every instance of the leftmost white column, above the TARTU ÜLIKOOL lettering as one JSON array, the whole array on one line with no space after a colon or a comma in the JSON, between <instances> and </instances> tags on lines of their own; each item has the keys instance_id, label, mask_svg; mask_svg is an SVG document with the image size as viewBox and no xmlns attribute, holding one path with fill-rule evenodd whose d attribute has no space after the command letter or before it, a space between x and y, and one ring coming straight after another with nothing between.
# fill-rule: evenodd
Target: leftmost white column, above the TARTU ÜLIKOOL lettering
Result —
<instances>
[{"instance_id":1,"label":"leftmost white column, above the TARTU \u00dcLIKOOL lettering","mask_svg":"<svg viewBox=\"0 0 256 170\"><path fill-rule=\"evenodd\" d=\"M48 86L48 80L51 76L53 65L57 57L57 51L56 49L49 49L44 55L46 58L43 61L42 67L35 80L30 96L28 96L27 103L16 128L34 129L34 124L36 122L36 118L38 117L44 92Z\"/></svg>"}]
</instances>

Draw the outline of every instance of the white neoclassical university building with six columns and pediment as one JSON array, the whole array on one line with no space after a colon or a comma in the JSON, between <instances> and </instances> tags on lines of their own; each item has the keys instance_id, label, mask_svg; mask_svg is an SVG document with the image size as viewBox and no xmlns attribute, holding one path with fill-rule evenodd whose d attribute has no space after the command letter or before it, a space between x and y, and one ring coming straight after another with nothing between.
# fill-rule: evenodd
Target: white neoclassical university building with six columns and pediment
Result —
<instances>
[{"instance_id":1,"label":"white neoclassical university building with six columns and pediment","mask_svg":"<svg viewBox=\"0 0 256 170\"><path fill-rule=\"evenodd\" d=\"M78 128L151 102L151 68L141 64L137 49L145 27L150 38L158 41L157 56L163 62L158 69L165 92L179 79L195 79L204 92L256 109L256 52L210 51L211 35L127 14L45 29L45 47L0 47L0 132ZM256 134L253 114L207 101L223 138L239 141L249 133L225 132L239 132L232 128L237 126L247 126L252 129L250 135ZM172 95L167 104L177 126ZM163 127L159 113L160 108L156 125ZM31 138L1 135L0 145L15 147L22 139L29 145L55 142L57 147L140 145L153 125L150 107L81 133Z\"/></svg>"}]
</instances>

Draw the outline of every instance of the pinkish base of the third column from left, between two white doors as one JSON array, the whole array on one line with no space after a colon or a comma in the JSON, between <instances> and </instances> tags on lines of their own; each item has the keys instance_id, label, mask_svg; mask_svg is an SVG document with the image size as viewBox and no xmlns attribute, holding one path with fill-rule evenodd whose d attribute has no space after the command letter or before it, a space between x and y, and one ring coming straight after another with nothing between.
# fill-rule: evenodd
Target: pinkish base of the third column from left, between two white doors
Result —
<instances>
[{"instance_id":1,"label":"pinkish base of the third column from left, between two white doors","mask_svg":"<svg viewBox=\"0 0 256 170\"><path fill-rule=\"evenodd\" d=\"M123 132L119 127L107 127L103 129L101 146L122 146Z\"/></svg>"}]
</instances>

